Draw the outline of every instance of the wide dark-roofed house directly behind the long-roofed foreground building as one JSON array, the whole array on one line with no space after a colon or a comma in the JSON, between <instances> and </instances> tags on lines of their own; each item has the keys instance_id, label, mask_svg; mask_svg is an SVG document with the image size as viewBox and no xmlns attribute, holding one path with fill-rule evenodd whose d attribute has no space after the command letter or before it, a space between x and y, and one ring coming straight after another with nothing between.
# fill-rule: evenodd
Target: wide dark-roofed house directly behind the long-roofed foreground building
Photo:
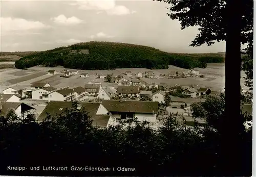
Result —
<instances>
[{"instance_id":1,"label":"wide dark-roofed house directly behind the long-roofed foreground building","mask_svg":"<svg viewBox=\"0 0 256 177\"><path fill-rule=\"evenodd\" d=\"M117 86L117 94L121 97L123 96L139 97L139 87L138 86Z\"/></svg>"}]
</instances>

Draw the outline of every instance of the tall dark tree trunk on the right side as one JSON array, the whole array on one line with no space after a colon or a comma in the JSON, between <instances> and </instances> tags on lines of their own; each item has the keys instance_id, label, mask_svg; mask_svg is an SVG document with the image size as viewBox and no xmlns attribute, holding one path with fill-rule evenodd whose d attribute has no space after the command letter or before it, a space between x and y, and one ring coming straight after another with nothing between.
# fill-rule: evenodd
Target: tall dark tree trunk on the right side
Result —
<instances>
[{"instance_id":1,"label":"tall dark tree trunk on the right side","mask_svg":"<svg viewBox=\"0 0 256 177\"><path fill-rule=\"evenodd\" d=\"M225 116L222 124L222 175L239 176L241 151L239 143L240 78L241 78L241 5L243 0L227 1L227 31L225 57Z\"/></svg>"}]
</instances>

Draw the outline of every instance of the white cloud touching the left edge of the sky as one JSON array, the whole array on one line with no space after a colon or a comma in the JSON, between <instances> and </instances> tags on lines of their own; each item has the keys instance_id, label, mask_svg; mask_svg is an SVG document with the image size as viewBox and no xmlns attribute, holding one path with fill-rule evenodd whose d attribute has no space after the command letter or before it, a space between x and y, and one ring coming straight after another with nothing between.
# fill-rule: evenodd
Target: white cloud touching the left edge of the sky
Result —
<instances>
[{"instance_id":1,"label":"white cloud touching the left edge of the sky","mask_svg":"<svg viewBox=\"0 0 256 177\"><path fill-rule=\"evenodd\" d=\"M23 18L11 17L0 17L0 26L2 33L11 31L38 30L49 27L40 21L29 21Z\"/></svg>"}]
</instances>

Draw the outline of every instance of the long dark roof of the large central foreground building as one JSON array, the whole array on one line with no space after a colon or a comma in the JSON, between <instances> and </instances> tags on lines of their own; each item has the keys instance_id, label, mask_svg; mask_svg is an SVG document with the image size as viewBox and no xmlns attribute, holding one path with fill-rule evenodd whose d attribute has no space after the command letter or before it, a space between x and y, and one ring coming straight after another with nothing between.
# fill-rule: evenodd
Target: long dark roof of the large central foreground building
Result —
<instances>
[{"instance_id":1,"label":"long dark roof of the large central foreground building","mask_svg":"<svg viewBox=\"0 0 256 177\"><path fill-rule=\"evenodd\" d=\"M110 112L157 113L158 102L135 100L103 100L101 103Z\"/></svg>"}]
</instances>

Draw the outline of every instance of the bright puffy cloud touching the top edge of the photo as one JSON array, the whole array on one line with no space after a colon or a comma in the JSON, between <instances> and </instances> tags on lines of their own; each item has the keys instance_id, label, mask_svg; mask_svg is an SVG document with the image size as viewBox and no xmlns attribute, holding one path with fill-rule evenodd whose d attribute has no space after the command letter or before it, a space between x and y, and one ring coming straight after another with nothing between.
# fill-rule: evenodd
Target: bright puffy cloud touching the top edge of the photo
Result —
<instances>
[{"instance_id":1,"label":"bright puffy cloud touching the top edge of the photo","mask_svg":"<svg viewBox=\"0 0 256 177\"><path fill-rule=\"evenodd\" d=\"M76 3L70 3L71 6L78 6L81 10L103 10L108 15L127 15L132 14L135 11L130 11L125 6L117 6L115 0L77 0ZM97 12L99 14L99 12Z\"/></svg>"}]
</instances>

